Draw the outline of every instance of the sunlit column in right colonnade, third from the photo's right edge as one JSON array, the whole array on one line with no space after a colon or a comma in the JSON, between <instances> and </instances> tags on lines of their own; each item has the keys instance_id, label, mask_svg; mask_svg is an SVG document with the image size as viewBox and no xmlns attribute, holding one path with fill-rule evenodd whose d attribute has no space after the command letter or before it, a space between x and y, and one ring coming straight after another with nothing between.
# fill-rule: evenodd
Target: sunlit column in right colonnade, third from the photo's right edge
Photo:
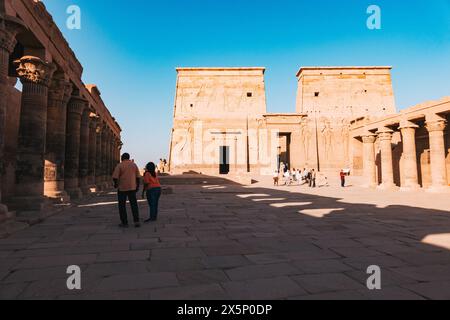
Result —
<instances>
[{"instance_id":1,"label":"sunlit column in right colonnade, third from the photo's right edge","mask_svg":"<svg viewBox=\"0 0 450 320\"><path fill-rule=\"evenodd\" d=\"M378 140L381 149L381 174L382 183L380 189L393 189L394 183L394 165L392 161L392 131L389 128L381 128L378 131Z\"/></svg>"}]
</instances>

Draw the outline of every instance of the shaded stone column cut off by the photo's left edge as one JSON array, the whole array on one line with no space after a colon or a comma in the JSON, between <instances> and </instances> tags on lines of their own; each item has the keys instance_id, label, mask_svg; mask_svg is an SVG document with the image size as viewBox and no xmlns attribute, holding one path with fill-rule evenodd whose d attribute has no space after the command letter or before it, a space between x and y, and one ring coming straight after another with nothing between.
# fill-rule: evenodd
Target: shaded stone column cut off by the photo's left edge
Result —
<instances>
[{"instance_id":1,"label":"shaded stone column cut off by the photo's left edge","mask_svg":"<svg viewBox=\"0 0 450 320\"><path fill-rule=\"evenodd\" d=\"M6 105L9 87L9 57L16 46L16 35L23 25L14 17L0 13L0 159L3 159L5 147ZM0 215L6 214L8 208L2 204L3 161L0 161Z\"/></svg>"}]
</instances>

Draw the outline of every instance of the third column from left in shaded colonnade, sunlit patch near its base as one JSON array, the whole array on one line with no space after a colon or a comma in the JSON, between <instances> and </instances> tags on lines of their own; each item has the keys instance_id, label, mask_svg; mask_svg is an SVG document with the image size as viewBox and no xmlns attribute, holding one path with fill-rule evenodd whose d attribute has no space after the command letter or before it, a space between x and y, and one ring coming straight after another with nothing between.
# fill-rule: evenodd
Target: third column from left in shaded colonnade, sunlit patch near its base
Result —
<instances>
[{"instance_id":1,"label":"third column from left in shaded colonnade, sunlit patch near its base","mask_svg":"<svg viewBox=\"0 0 450 320\"><path fill-rule=\"evenodd\" d=\"M72 85L64 74L55 76L49 89L44 194L60 202L70 200L64 188L67 103Z\"/></svg>"}]
</instances>

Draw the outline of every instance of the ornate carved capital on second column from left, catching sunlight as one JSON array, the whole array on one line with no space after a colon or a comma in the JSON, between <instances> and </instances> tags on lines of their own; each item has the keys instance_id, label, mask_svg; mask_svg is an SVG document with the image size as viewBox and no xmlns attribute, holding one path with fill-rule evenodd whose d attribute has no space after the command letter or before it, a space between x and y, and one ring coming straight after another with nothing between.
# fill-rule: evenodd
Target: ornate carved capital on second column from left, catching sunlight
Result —
<instances>
[{"instance_id":1,"label":"ornate carved capital on second column from left, catching sunlight","mask_svg":"<svg viewBox=\"0 0 450 320\"><path fill-rule=\"evenodd\" d=\"M17 73L22 82L31 82L43 86L50 86L56 66L45 62L38 57L25 56L14 61L17 65Z\"/></svg>"}]
</instances>

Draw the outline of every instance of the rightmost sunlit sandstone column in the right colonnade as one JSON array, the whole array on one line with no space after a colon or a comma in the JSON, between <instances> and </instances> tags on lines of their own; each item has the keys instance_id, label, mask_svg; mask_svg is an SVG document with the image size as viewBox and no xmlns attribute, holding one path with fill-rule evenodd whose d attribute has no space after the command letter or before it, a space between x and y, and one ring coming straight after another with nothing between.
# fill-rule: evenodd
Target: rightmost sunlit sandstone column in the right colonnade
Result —
<instances>
[{"instance_id":1,"label":"rightmost sunlit sandstone column in the right colonnade","mask_svg":"<svg viewBox=\"0 0 450 320\"><path fill-rule=\"evenodd\" d=\"M447 121L437 115L428 116L426 128L430 135L431 154L431 187L429 192L447 192L450 190L447 180L447 169L445 161L444 130Z\"/></svg>"}]
</instances>

